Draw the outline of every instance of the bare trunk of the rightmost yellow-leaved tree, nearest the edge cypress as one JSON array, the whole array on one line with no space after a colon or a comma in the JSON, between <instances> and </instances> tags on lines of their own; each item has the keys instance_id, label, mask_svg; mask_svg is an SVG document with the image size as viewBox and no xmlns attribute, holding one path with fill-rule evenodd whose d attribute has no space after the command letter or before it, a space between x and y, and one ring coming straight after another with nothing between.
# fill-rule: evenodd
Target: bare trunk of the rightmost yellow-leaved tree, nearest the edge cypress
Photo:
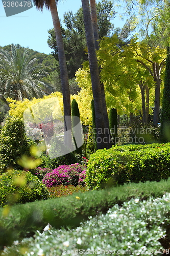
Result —
<instances>
[{"instance_id":1,"label":"bare trunk of the rightmost yellow-leaved tree, nearest the edge cypress","mask_svg":"<svg viewBox=\"0 0 170 256\"><path fill-rule=\"evenodd\" d=\"M154 126L158 125L159 118L159 108L160 108L160 84L161 79L159 75L159 65L156 62L153 62L153 71L154 71L154 81L155 81L155 107L154 107Z\"/></svg>"}]
</instances>

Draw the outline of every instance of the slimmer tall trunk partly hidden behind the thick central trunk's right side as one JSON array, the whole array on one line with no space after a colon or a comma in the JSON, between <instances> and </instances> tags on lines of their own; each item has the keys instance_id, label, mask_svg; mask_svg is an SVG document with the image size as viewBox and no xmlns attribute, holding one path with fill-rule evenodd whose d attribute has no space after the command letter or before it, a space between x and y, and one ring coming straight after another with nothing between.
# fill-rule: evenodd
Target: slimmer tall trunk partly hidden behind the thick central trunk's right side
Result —
<instances>
[{"instance_id":1,"label":"slimmer tall trunk partly hidden behind the thick central trunk's right side","mask_svg":"<svg viewBox=\"0 0 170 256\"><path fill-rule=\"evenodd\" d=\"M98 33L98 18L96 14L96 4L95 0L90 0L90 9L91 9L91 22L92 22L92 29L94 34L94 44L95 49L99 50L99 33ZM99 72L101 72L101 67L99 68ZM104 123L105 123L105 134L107 136L107 148L112 146L111 141L111 134L109 129L109 118L107 113L107 105L106 105L106 97L105 97L105 88L104 84L101 83L101 97L102 97L102 106L103 106L103 116L104 116Z\"/></svg>"}]
</instances>

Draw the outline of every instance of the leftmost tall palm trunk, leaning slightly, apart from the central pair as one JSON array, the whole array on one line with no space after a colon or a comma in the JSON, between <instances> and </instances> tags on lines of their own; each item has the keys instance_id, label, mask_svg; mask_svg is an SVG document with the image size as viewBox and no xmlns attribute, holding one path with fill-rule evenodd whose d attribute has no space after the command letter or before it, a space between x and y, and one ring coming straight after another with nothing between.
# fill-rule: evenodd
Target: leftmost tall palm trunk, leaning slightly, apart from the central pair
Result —
<instances>
[{"instance_id":1,"label":"leftmost tall palm trunk, leaning slightly, apart from the central pair","mask_svg":"<svg viewBox=\"0 0 170 256\"><path fill-rule=\"evenodd\" d=\"M70 91L68 82L68 72L66 66L64 44L61 33L61 25L58 16L55 0L50 0L50 11L52 14L54 30L56 34L58 58L60 65L61 86L64 105L64 142L67 147L71 148L71 106L70 106Z\"/></svg>"}]
</instances>

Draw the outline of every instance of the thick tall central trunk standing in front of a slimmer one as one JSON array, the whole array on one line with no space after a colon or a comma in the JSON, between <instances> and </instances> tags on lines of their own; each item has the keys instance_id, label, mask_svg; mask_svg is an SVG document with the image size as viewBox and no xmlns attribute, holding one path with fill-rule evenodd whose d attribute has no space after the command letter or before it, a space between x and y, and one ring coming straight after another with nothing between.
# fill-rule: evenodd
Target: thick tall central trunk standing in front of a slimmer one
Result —
<instances>
[{"instance_id":1,"label":"thick tall central trunk standing in front of a slimmer one","mask_svg":"<svg viewBox=\"0 0 170 256\"><path fill-rule=\"evenodd\" d=\"M88 0L82 0L82 7L83 7L83 16L84 16L84 27L85 27L85 33L86 33L86 42L87 42L87 49L88 49L92 92L93 92L93 99L94 99L95 123L96 123L96 133L97 133L96 140L98 144L98 149L101 149L101 148L107 147L107 142L105 140L107 139L107 137L105 137L105 133L104 133L105 124L104 124L104 116L103 116L98 59L95 53L94 35L92 30Z\"/></svg>"}]
</instances>

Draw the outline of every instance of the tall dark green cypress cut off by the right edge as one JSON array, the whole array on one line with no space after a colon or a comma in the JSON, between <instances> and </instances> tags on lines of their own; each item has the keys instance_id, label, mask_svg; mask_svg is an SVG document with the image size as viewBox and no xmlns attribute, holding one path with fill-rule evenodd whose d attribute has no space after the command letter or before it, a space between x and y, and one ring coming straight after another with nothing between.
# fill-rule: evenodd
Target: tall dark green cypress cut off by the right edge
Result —
<instances>
[{"instance_id":1,"label":"tall dark green cypress cut off by the right edge","mask_svg":"<svg viewBox=\"0 0 170 256\"><path fill-rule=\"evenodd\" d=\"M164 78L164 90L161 113L161 132L162 142L170 141L170 48L167 48L166 69Z\"/></svg>"}]
</instances>

